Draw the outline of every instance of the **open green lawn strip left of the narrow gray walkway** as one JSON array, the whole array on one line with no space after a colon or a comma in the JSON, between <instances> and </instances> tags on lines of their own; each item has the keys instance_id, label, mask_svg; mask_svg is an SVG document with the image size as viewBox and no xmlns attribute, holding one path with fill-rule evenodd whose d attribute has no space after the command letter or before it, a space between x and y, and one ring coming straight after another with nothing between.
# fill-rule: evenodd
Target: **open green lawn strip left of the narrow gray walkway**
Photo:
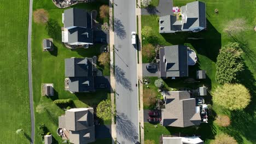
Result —
<instances>
[{"instance_id":1,"label":"open green lawn strip left of the narrow gray walkway","mask_svg":"<svg viewBox=\"0 0 256 144\"><path fill-rule=\"evenodd\" d=\"M29 143L28 1L2 1L0 15L0 143ZM17 129L24 129L27 138Z\"/></svg>"}]
</instances>

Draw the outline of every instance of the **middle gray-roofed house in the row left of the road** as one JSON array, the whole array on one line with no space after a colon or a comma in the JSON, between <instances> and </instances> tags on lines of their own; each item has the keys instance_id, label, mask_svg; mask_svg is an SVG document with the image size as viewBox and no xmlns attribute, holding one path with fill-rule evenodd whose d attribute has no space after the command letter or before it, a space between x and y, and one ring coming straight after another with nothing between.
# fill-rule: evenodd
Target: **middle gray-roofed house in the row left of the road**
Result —
<instances>
[{"instance_id":1,"label":"middle gray-roofed house in the row left of the road","mask_svg":"<svg viewBox=\"0 0 256 144\"><path fill-rule=\"evenodd\" d=\"M92 65L92 58L65 59L65 77L67 77L67 90L69 92L95 91Z\"/></svg>"}]
</instances>

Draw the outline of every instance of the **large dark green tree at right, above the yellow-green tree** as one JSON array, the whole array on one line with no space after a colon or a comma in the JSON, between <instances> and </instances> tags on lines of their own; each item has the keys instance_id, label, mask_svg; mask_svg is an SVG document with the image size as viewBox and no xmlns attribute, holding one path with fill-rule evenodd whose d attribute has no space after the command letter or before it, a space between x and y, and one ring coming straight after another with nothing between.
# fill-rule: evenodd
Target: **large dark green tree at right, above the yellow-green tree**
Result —
<instances>
[{"instance_id":1,"label":"large dark green tree at right, above the yellow-green tree","mask_svg":"<svg viewBox=\"0 0 256 144\"><path fill-rule=\"evenodd\" d=\"M220 49L216 62L216 80L220 84L237 82L243 70L242 50L238 43L230 43Z\"/></svg>"}]
</instances>

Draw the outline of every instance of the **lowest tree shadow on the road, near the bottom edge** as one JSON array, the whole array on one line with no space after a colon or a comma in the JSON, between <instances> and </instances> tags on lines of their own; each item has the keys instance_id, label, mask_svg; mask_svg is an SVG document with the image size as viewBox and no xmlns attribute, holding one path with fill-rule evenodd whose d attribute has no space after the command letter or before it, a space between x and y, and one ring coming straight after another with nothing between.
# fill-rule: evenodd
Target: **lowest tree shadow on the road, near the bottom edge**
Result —
<instances>
[{"instance_id":1,"label":"lowest tree shadow on the road, near the bottom edge","mask_svg":"<svg viewBox=\"0 0 256 144\"><path fill-rule=\"evenodd\" d=\"M136 126L127 118L124 113L117 115L117 133L122 135L124 139L129 140L131 143L138 141L138 133Z\"/></svg>"}]
</instances>

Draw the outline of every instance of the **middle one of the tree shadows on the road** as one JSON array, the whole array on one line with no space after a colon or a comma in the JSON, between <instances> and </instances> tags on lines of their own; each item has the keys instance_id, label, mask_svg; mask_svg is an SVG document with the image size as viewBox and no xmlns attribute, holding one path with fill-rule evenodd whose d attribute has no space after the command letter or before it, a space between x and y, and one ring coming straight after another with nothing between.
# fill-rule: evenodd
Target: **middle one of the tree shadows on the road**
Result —
<instances>
[{"instance_id":1,"label":"middle one of the tree shadows on the road","mask_svg":"<svg viewBox=\"0 0 256 144\"><path fill-rule=\"evenodd\" d=\"M125 78L125 71L115 65L115 81L132 91L130 80Z\"/></svg>"}]
</instances>

